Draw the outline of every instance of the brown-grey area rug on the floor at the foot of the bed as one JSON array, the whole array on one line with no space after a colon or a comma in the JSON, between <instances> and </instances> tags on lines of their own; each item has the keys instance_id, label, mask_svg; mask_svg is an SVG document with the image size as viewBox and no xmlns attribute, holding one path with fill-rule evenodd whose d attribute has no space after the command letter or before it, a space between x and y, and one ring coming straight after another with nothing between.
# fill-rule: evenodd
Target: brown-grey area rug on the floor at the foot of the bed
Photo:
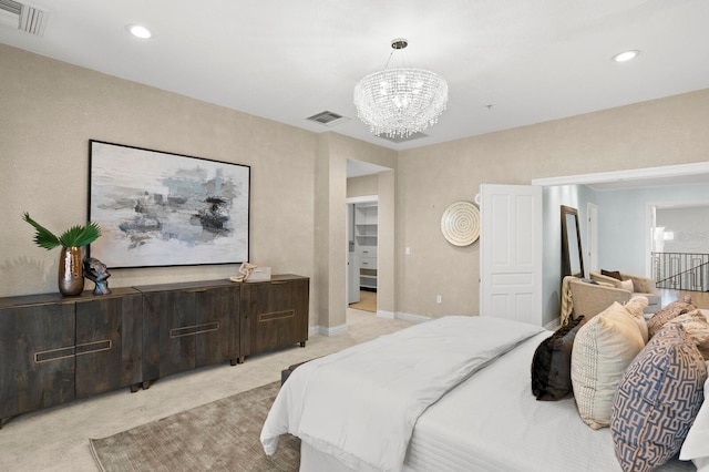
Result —
<instances>
[{"instance_id":1,"label":"brown-grey area rug on the floor at the foot of the bed","mask_svg":"<svg viewBox=\"0 0 709 472\"><path fill-rule=\"evenodd\" d=\"M300 440L273 456L259 435L280 382L203 404L103 439L91 439L99 469L112 471L297 471Z\"/></svg>"}]
</instances>

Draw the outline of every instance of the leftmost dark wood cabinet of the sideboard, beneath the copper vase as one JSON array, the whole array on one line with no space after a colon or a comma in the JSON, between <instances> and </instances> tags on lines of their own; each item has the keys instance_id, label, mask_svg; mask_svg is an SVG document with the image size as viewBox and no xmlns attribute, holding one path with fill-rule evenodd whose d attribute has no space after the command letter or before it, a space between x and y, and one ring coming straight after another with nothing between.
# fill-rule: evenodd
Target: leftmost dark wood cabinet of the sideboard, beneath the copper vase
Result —
<instances>
[{"instance_id":1,"label":"leftmost dark wood cabinet of the sideboard, beneath the copper vase","mask_svg":"<svg viewBox=\"0 0 709 472\"><path fill-rule=\"evenodd\" d=\"M111 295L0 298L0 427L17 414L142 381L142 300Z\"/></svg>"}]
</instances>

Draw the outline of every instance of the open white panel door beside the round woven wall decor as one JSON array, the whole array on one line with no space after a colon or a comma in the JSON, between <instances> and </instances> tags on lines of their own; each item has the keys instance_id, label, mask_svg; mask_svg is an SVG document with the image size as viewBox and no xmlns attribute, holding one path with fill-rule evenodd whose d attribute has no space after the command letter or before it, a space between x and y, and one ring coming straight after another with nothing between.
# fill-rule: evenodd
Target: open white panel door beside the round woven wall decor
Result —
<instances>
[{"instance_id":1,"label":"open white panel door beside the round woven wall decor","mask_svg":"<svg viewBox=\"0 0 709 472\"><path fill-rule=\"evenodd\" d=\"M541 326L542 187L481 185L480 315Z\"/></svg>"}]
</instances>

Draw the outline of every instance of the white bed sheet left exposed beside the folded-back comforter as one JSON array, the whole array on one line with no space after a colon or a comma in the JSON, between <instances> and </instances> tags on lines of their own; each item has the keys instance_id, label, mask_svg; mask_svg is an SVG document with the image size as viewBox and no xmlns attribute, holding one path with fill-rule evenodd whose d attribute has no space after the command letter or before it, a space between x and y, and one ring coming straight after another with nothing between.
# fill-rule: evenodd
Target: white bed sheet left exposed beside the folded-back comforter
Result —
<instances>
[{"instance_id":1,"label":"white bed sheet left exposed beside the folded-back comforter","mask_svg":"<svg viewBox=\"0 0 709 472\"><path fill-rule=\"evenodd\" d=\"M523 342L430 407L414 428L404 471L621 472L609 429L588 428L573 398L544 402L532 394L532 356L548 336ZM350 471L307 445L300 470ZM672 459L659 470L696 468Z\"/></svg>"}]
</instances>

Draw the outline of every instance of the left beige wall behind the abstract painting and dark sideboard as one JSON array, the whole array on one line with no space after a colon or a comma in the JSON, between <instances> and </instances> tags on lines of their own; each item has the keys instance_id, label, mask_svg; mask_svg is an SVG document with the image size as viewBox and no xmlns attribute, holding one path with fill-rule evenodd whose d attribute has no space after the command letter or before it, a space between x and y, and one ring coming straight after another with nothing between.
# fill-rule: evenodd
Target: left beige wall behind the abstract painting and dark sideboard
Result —
<instances>
[{"instance_id":1,"label":"left beige wall behind the abstract painting and dark sideboard","mask_svg":"<svg viewBox=\"0 0 709 472\"><path fill-rule=\"evenodd\" d=\"M251 261L314 275L317 134L7 45L0 70L0 296L58 290L59 249L37 247L21 215L56 233L86 220L90 138L250 165ZM236 268L115 269L110 286L225 278Z\"/></svg>"}]
</instances>

